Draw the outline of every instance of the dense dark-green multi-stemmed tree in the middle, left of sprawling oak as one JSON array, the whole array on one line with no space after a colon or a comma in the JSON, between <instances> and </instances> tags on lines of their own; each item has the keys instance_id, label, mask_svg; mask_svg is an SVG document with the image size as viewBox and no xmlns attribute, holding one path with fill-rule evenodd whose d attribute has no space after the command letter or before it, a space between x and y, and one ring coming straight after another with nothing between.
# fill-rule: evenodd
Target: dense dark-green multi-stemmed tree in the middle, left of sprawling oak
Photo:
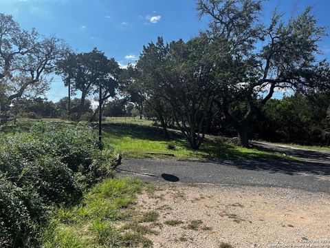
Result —
<instances>
[{"instance_id":1,"label":"dense dark-green multi-stemmed tree in the middle, left of sprawling oak","mask_svg":"<svg viewBox=\"0 0 330 248\"><path fill-rule=\"evenodd\" d=\"M136 68L147 99L161 98L170 104L177 127L192 149L203 143L212 114L213 85L207 37L164 45L162 38L149 43Z\"/></svg>"}]
</instances>

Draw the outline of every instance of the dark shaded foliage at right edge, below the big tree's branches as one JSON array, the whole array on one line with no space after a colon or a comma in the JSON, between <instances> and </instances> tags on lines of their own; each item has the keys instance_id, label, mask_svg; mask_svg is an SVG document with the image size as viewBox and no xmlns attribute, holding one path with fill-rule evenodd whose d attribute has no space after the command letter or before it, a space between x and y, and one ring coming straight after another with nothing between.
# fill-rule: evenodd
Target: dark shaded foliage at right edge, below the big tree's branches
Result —
<instances>
[{"instance_id":1,"label":"dark shaded foliage at right edge, below the big tree's branches","mask_svg":"<svg viewBox=\"0 0 330 248\"><path fill-rule=\"evenodd\" d=\"M329 93L271 99L254 121L258 138L302 145L330 145Z\"/></svg>"}]
</instances>

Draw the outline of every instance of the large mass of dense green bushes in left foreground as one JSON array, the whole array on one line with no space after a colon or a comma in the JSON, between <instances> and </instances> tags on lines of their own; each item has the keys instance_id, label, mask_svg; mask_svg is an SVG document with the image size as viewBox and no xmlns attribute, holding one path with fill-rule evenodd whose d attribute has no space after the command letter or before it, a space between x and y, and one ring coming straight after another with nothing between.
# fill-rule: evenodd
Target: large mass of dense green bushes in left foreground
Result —
<instances>
[{"instance_id":1,"label":"large mass of dense green bushes in left foreground","mask_svg":"<svg viewBox=\"0 0 330 248\"><path fill-rule=\"evenodd\" d=\"M56 205L112 175L112 152L98 149L90 127L39 123L0 145L0 247L37 247L39 229Z\"/></svg>"}]
</instances>

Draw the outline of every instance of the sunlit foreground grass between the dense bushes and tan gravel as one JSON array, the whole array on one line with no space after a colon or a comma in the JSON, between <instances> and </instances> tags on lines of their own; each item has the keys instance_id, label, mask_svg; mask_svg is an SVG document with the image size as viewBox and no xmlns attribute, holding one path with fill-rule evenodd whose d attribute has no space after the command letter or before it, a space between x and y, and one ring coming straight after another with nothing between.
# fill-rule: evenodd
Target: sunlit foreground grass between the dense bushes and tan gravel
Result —
<instances>
[{"instance_id":1,"label":"sunlit foreground grass between the dense bushes and tan gravel","mask_svg":"<svg viewBox=\"0 0 330 248\"><path fill-rule=\"evenodd\" d=\"M43 247L152 247L144 235L157 232L133 220L135 196L143 187L136 179L104 180L85 194L80 205L54 212L43 231ZM129 224L118 227L124 221Z\"/></svg>"}]
</instances>

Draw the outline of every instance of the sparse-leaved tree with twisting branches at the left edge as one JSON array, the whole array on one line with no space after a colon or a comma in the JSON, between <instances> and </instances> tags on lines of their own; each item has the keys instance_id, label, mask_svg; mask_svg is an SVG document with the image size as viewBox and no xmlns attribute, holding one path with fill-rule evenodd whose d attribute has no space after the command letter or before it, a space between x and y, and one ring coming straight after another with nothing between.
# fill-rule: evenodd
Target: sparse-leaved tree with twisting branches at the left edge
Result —
<instances>
[{"instance_id":1,"label":"sparse-leaved tree with twisting branches at the left edge","mask_svg":"<svg viewBox=\"0 0 330 248\"><path fill-rule=\"evenodd\" d=\"M0 110L23 94L45 92L47 74L67 50L63 40L22 30L12 16L0 13Z\"/></svg>"}]
</instances>

